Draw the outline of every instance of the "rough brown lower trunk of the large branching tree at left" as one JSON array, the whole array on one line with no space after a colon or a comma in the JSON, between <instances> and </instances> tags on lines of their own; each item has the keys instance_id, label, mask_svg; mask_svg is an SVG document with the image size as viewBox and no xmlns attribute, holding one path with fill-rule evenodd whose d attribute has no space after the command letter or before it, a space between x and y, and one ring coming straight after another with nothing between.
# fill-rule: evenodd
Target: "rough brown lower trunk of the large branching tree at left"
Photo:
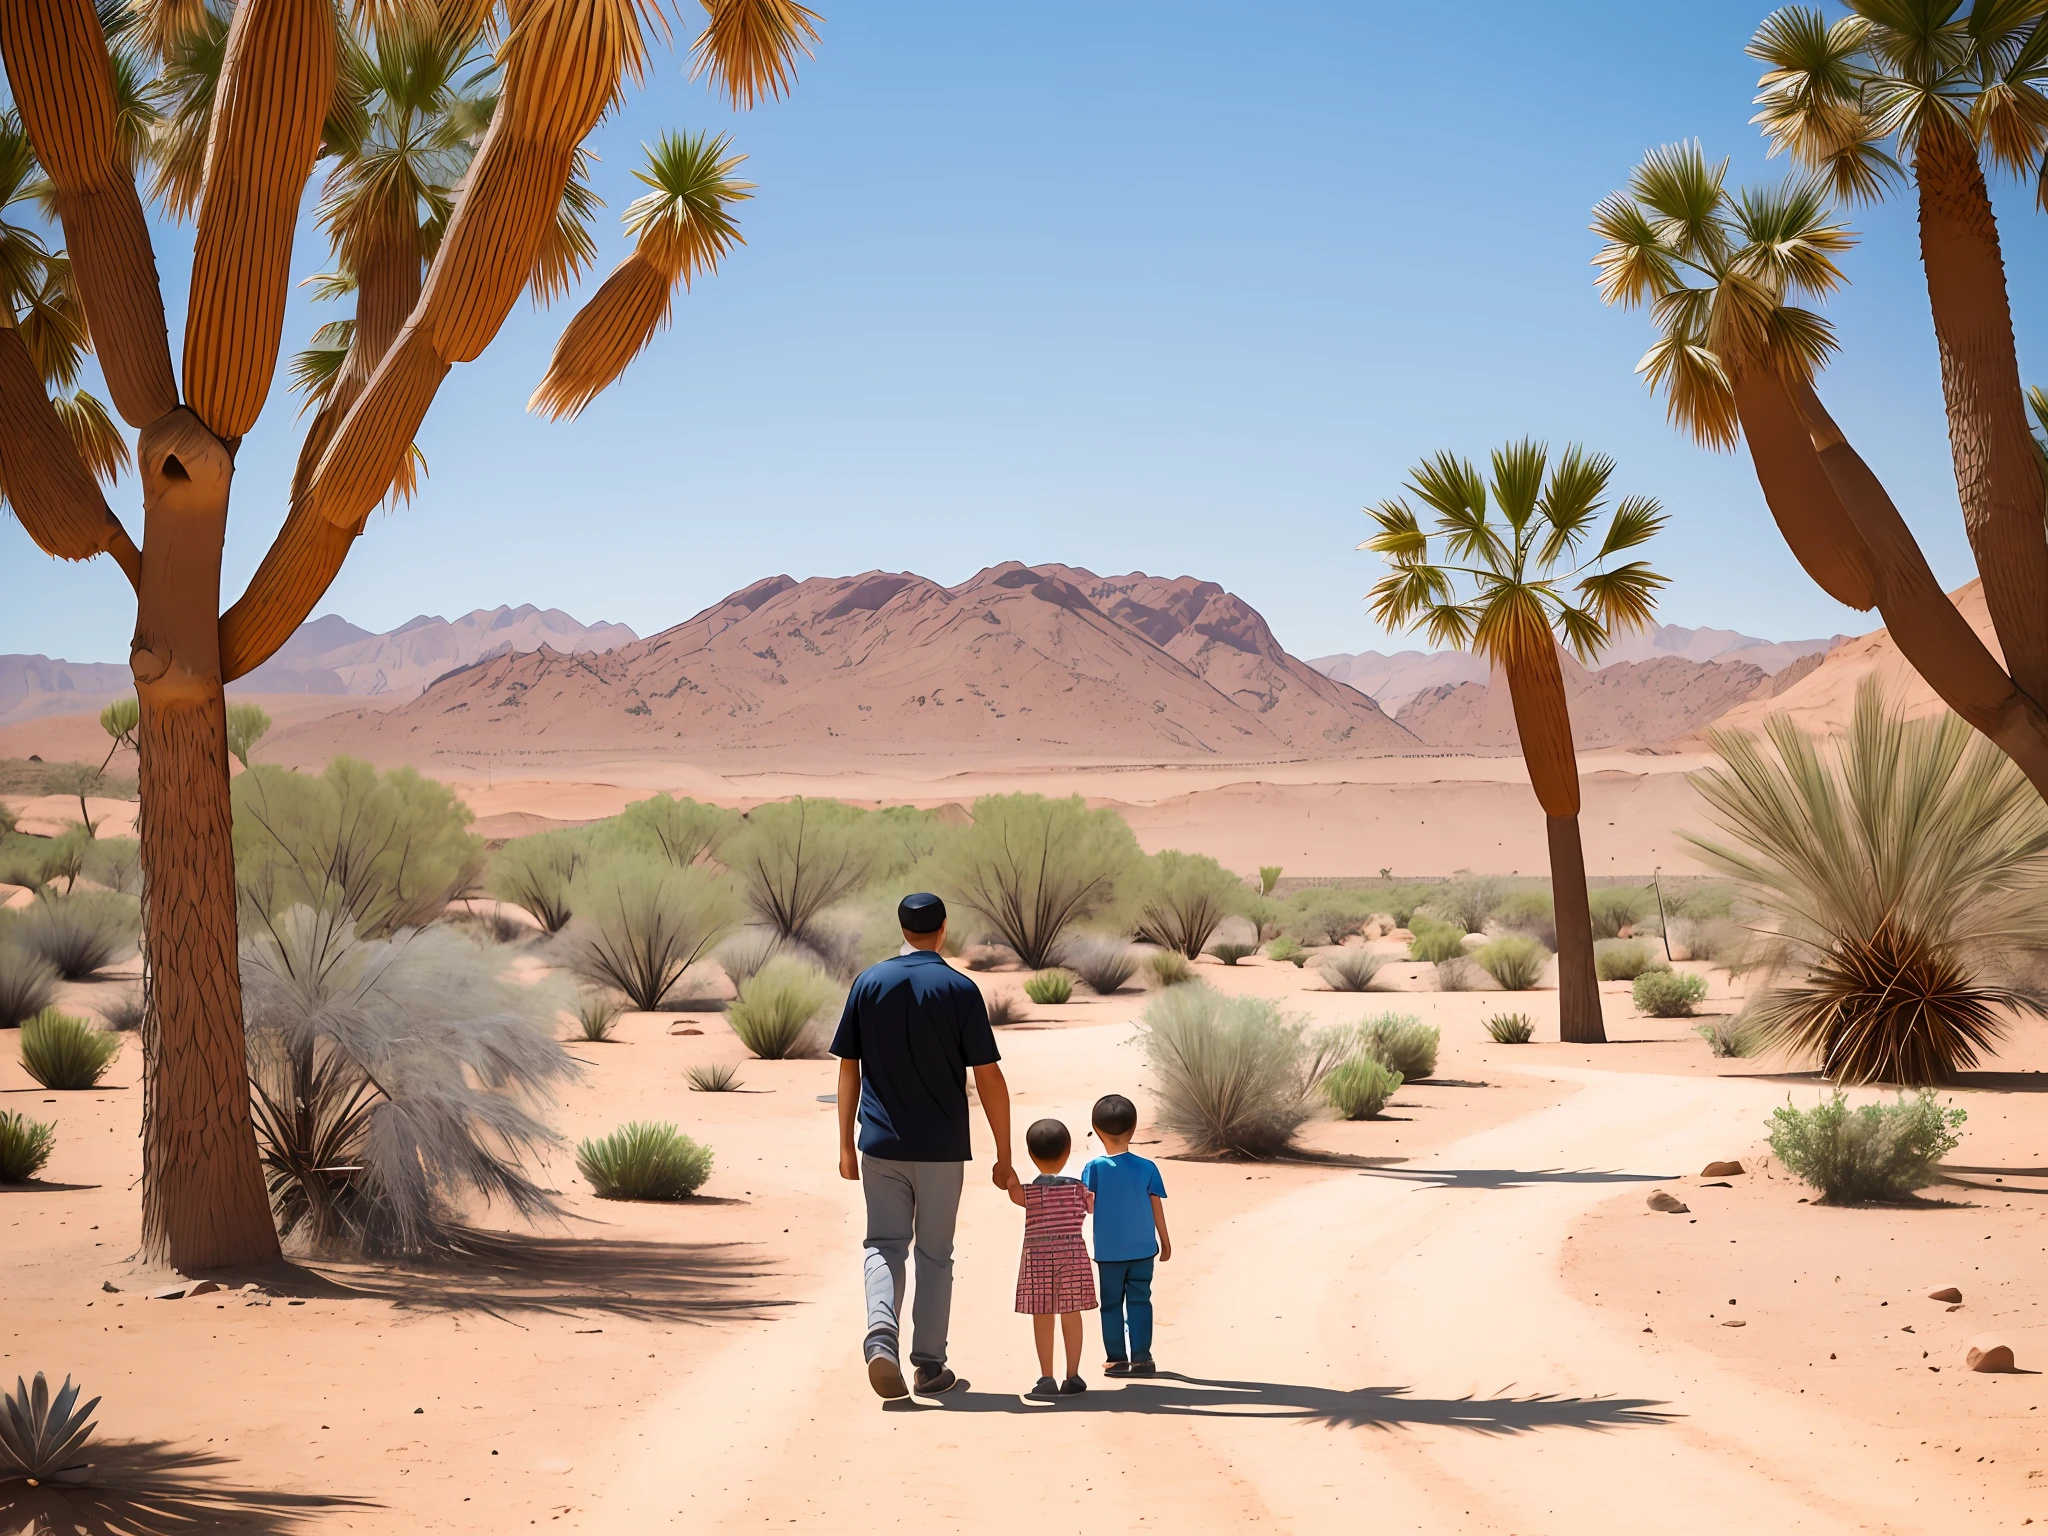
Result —
<instances>
[{"instance_id":1,"label":"rough brown lower trunk of the large branching tree at left","mask_svg":"<svg viewBox=\"0 0 2048 1536\"><path fill-rule=\"evenodd\" d=\"M147 426L141 592L143 1202L150 1257L180 1270L279 1257L256 1159L221 694L221 547L233 459L188 410Z\"/></svg>"}]
</instances>

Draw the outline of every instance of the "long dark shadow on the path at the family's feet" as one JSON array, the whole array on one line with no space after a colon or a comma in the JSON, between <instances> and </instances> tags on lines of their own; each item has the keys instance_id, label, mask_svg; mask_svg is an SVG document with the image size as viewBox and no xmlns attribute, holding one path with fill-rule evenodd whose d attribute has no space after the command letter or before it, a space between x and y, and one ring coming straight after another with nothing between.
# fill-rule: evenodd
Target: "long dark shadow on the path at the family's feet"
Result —
<instances>
[{"instance_id":1,"label":"long dark shadow on the path at the family's feet","mask_svg":"<svg viewBox=\"0 0 2048 1536\"><path fill-rule=\"evenodd\" d=\"M915 1401L915 1399L911 1399ZM1522 1436L1536 1430L1636 1430L1671 1423L1677 1415L1651 1397L1413 1397L1407 1386L1300 1386L1270 1380L1212 1380L1161 1372L1130 1376L1110 1389L1030 1403L1006 1393L961 1389L918 1403L946 1413L1163 1413L1204 1419L1282 1419L1325 1430L1470 1430Z\"/></svg>"}]
</instances>

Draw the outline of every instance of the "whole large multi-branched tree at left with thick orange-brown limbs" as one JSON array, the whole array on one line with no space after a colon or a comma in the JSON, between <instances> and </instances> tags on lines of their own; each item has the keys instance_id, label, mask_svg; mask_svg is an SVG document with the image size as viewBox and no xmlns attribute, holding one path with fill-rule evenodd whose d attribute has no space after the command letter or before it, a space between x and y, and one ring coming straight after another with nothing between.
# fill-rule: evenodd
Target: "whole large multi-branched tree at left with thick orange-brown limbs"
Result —
<instances>
[{"instance_id":1,"label":"whole large multi-branched tree at left with thick orange-brown limbs","mask_svg":"<svg viewBox=\"0 0 2048 1536\"><path fill-rule=\"evenodd\" d=\"M815 41L813 12L795 0L700 2L698 72L739 106L786 90ZM0 63L68 262L59 289L37 291L53 313L76 295L115 412L139 432L137 549L94 483L92 453L72 446L49 371L23 367L20 328L0 328L0 492L39 547L113 555L137 596L154 1257L205 1268L279 1251L240 1092L223 684L307 618L371 510L401 485L451 367L489 346L522 293L555 297L588 262L588 236L578 244L563 223L565 207L571 223L590 207L575 190L582 145L627 78L643 76L645 25L659 16L643 0L0 0ZM459 78L471 61L487 80ZM197 225L182 371L135 180L143 137L154 195ZM336 287L356 291L358 311L285 524L221 612L236 451L276 373L293 225L322 160ZM715 162L729 172L733 158ZM743 190L700 176L674 205L643 209L635 256L682 283L709 270L729 225L702 233L694 266L674 264L676 229L715 223L711 211ZM55 238L41 250L57 256ZM16 313L27 291L10 285ZM602 362L590 393L666 313L604 307L584 326L602 332L586 336Z\"/></svg>"}]
</instances>

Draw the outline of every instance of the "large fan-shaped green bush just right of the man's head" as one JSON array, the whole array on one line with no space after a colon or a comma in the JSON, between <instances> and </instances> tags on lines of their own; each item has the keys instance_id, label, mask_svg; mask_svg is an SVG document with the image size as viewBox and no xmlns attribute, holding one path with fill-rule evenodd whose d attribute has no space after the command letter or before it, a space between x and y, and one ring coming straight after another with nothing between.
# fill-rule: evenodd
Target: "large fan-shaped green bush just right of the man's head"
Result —
<instances>
[{"instance_id":1,"label":"large fan-shaped green bush just right of the man's head","mask_svg":"<svg viewBox=\"0 0 2048 1536\"><path fill-rule=\"evenodd\" d=\"M1067 930L1128 897L1141 877L1130 827L1079 795L983 795L973 815L940 838L934 883L1032 971L1055 965Z\"/></svg>"}]
</instances>

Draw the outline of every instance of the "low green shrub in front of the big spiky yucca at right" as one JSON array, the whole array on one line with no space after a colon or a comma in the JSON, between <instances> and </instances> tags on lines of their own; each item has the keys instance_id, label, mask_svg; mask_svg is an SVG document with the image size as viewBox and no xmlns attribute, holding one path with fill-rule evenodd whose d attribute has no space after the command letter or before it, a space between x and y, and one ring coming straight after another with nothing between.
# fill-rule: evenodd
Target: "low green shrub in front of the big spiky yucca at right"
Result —
<instances>
[{"instance_id":1,"label":"low green shrub in front of the big spiky yucca at right","mask_svg":"<svg viewBox=\"0 0 2048 1536\"><path fill-rule=\"evenodd\" d=\"M1929 1087L1858 1108L1837 1087L1810 1110L1772 1110L1772 1151L1825 1204L1905 1200L1939 1178L1935 1165L1956 1151L1966 1118Z\"/></svg>"}]
</instances>

